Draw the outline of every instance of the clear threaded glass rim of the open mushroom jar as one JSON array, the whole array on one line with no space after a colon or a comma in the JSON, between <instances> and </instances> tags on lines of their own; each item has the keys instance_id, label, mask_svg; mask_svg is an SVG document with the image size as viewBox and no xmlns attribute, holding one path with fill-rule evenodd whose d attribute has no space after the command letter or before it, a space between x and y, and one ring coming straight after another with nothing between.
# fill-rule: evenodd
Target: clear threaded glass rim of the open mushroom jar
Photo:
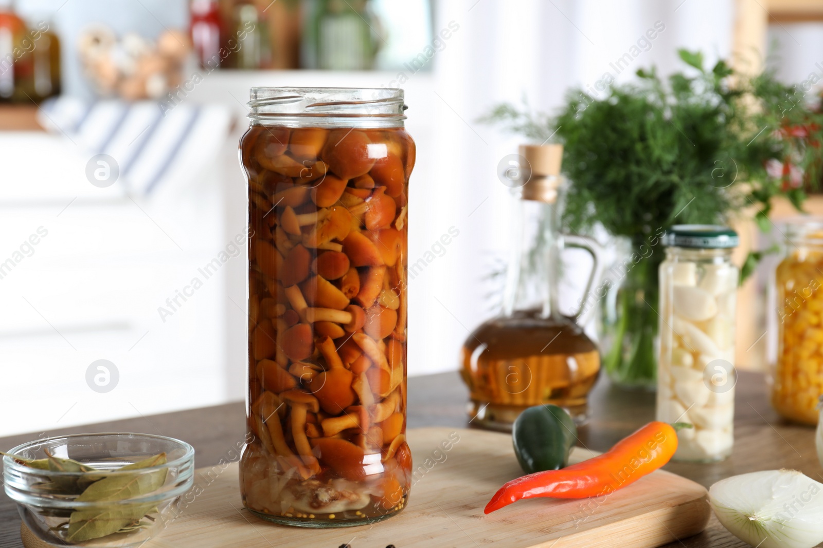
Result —
<instances>
[{"instance_id":1,"label":"clear threaded glass rim of the open mushroom jar","mask_svg":"<svg viewBox=\"0 0 823 548\"><path fill-rule=\"evenodd\" d=\"M249 90L252 123L402 127L408 108L401 88L268 87Z\"/></svg>"}]
</instances>

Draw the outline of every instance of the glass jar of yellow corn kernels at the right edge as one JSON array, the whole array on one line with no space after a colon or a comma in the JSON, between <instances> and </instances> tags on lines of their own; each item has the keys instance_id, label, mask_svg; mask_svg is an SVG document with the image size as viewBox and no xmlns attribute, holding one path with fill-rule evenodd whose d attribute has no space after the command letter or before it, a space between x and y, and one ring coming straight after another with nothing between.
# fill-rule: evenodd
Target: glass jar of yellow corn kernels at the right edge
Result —
<instances>
[{"instance_id":1,"label":"glass jar of yellow corn kernels at the right edge","mask_svg":"<svg viewBox=\"0 0 823 548\"><path fill-rule=\"evenodd\" d=\"M785 223L783 260L774 272L777 360L771 400L783 417L816 425L823 394L823 219Z\"/></svg>"}]
</instances>

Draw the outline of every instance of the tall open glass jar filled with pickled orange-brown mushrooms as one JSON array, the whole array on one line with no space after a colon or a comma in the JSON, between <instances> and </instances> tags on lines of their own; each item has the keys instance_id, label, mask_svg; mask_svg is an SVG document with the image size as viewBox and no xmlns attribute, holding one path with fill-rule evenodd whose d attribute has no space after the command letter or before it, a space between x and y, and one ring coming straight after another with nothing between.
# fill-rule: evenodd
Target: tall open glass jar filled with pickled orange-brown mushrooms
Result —
<instances>
[{"instance_id":1,"label":"tall open glass jar filled with pickled orange-brown mushrooms","mask_svg":"<svg viewBox=\"0 0 823 548\"><path fill-rule=\"evenodd\" d=\"M249 108L244 505L374 523L405 506L412 472L403 91L253 88Z\"/></svg>"}]
</instances>

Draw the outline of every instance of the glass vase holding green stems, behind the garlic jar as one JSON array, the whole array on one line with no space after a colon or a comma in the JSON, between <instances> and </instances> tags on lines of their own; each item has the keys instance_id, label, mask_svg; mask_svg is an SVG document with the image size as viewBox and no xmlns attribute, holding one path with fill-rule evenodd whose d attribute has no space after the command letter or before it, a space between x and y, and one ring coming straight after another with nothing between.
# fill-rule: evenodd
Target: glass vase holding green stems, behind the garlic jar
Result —
<instances>
[{"instance_id":1,"label":"glass vase holding green stems, behind the garlic jar","mask_svg":"<svg viewBox=\"0 0 823 548\"><path fill-rule=\"evenodd\" d=\"M617 257L607 270L608 290L600 306L602 366L611 382L627 389L657 387L657 237L616 237Z\"/></svg>"}]
</instances>

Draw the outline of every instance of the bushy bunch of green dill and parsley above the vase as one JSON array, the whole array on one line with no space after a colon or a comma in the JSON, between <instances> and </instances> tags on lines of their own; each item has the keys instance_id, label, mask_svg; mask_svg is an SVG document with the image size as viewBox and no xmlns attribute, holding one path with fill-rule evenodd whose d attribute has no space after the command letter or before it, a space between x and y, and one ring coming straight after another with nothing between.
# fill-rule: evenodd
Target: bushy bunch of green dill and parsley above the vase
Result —
<instances>
[{"instance_id":1,"label":"bushy bunch of green dill and parsley above the vase","mask_svg":"<svg viewBox=\"0 0 823 548\"><path fill-rule=\"evenodd\" d=\"M823 113L808 93L816 78L785 85L772 72L750 77L724 61L707 69L700 53L679 53L690 69L666 81L641 69L639 81L600 96L572 90L554 117L502 104L484 121L565 145L565 221L576 230L601 223L636 242L672 224L746 214L770 229L774 196L798 210L806 198L788 166L813 185L820 177Z\"/></svg>"}]
</instances>

